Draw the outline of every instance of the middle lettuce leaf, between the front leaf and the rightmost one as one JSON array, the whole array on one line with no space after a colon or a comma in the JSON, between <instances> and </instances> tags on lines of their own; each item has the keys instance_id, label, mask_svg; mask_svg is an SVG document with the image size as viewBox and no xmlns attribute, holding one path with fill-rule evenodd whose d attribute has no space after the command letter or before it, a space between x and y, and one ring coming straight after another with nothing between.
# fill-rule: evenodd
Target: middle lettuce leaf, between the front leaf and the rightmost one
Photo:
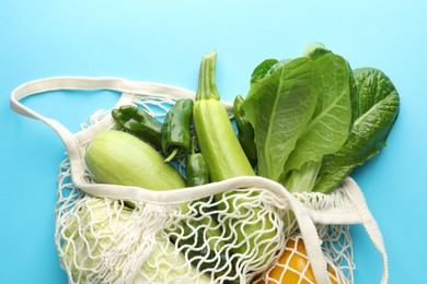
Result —
<instances>
[{"instance_id":1,"label":"middle lettuce leaf, between the front leaf and the rightmost one","mask_svg":"<svg viewBox=\"0 0 427 284\"><path fill-rule=\"evenodd\" d=\"M281 180L292 192L313 189L323 156L343 146L351 122L347 61L327 52L315 59L314 64L321 74L316 108L286 162L286 178Z\"/></svg>"}]
</instances>

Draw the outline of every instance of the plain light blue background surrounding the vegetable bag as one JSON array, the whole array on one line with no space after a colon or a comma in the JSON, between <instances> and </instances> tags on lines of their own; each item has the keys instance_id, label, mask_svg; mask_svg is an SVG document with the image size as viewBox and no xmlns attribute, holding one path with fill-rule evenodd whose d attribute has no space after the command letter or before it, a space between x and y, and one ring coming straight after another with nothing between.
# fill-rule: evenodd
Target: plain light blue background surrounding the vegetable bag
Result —
<instances>
[{"instance_id":1,"label":"plain light blue background surrounding the vegetable bag","mask_svg":"<svg viewBox=\"0 0 427 284\"><path fill-rule=\"evenodd\" d=\"M245 95L254 67L321 42L354 68L383 70L402 108L388 146L353 177L383 233L390 283L426 283L427 2L0 0L0 283L67 283L54 242L65 149L9 108L18 85L58 75L123 76L196 88L200 57L218 51L222 98ZM117 96L25 100L72 130ZM356 283L379 283L381 258L353 227Z\"/></svg>"}]
</instances>

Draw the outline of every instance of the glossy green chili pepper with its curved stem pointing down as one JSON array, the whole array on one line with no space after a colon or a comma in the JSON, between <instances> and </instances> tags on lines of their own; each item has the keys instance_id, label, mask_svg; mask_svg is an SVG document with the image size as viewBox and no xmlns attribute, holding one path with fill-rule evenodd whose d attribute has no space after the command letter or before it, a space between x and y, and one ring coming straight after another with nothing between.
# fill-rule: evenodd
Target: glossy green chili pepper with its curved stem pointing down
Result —
<instances>
[{"instance_id":1,"label":"glossy green chili pepper with its curved stem pointing down","mask_svg":"<svg viewBox=\"0 0 427 284\"><path fill-rule=\"evenodd\" d=\"M162 127L162 150L168 156L164 163L185 155L192 146L189 122L193 115L193 100L181 98L164 117Z\"/></svg>"}]
</instances>

